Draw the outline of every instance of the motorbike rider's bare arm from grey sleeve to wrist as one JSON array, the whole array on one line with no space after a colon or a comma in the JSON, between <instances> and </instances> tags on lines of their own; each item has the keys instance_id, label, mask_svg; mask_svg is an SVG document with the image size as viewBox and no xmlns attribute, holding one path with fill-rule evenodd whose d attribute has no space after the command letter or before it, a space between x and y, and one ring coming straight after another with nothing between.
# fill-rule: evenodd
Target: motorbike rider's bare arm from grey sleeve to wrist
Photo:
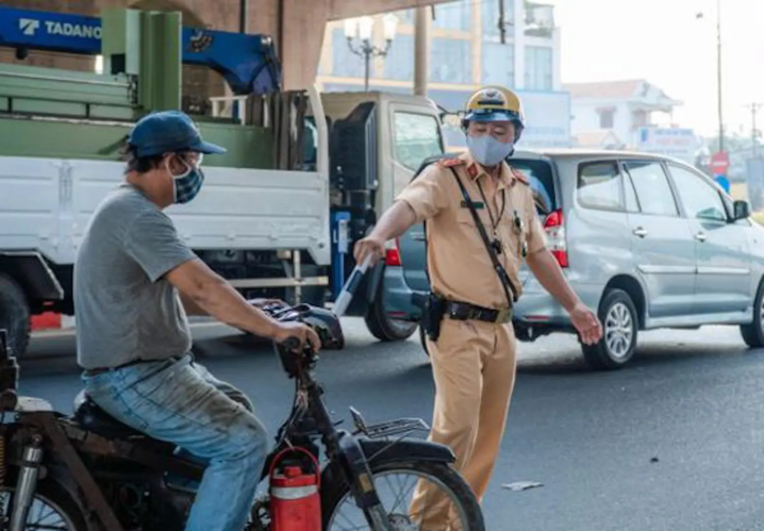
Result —
<instances>
[{"instance_id":1,"label":"motorbike rider's bare arm from grey sleeve to wrist","mask_svg":"<svg viewBox=\"0 0 764 531\"><path fill-rule=\"evenodd\" d=\"M249 304L231 284L199 259L171 270L167 280L178 288L181 299L198 306L204 312L202 315L261 337L275 338L280 332L274 319Z\"/></svg>"}]
</instances>

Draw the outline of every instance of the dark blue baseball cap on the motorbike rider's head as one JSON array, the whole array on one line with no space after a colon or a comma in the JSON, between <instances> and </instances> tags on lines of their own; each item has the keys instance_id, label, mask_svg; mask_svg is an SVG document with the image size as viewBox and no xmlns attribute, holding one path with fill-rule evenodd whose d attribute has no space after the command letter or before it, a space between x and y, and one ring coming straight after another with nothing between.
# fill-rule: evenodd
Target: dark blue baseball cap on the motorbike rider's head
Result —
<instances>
[{"instance_id":1,"label":"dark blue baseball cap on the motorbike rider's head","mask_svg":"<svg viewBox=\"0 0 764 531\"><path fill-rule=\"evenodd\" d=\"M203 154L225 153L225 147L202 141L199 127L180 111L152 112L141 118L131 131L128 144L138 157L151 157L173 151L197 151Z\"/></svg>"}]
</instances>

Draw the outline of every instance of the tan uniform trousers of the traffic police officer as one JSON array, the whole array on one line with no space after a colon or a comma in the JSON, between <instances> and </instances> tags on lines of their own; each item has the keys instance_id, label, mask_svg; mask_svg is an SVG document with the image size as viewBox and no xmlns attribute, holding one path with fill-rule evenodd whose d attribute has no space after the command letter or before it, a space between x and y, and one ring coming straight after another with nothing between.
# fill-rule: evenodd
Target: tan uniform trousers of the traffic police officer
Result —
<instances>
[{"instance_id":1,"label":"tan uniform trousers of the traffic police officer","mask_svg":"<svg viewBox=\"0 0 764 531\"><path fill-rule=\"evenodd\" d=\"M445 316L438 342L428 338L427 348L435 380L428 439L452 448L457 470L482 501L507 425L515 383L514 329L511 324ZM461 530L452 502L429 481L418 482L410 514L423 531Z\"/></svg>"}]
</instances>

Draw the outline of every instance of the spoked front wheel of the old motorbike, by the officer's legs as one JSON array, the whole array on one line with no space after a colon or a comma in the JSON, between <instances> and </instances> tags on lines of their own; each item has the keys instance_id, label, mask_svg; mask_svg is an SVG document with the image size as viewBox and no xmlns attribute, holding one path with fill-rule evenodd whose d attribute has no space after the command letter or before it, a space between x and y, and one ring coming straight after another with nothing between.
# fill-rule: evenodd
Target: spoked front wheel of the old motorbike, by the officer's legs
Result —
<instances>
[{"instance_id":1,"label":"spoked front wheel of the old motorbike, by the officer's legs","mask_svg":"<svg viewBox=\"0 0 764 531\"><path fill-rule=\"evenodd\" d=\"M483 513L470 486L451 467L444 463L427 461L375 461L371 464L374 486L382 502L387 518L395 531L408 529L450 529L451 531L485 531ZM392 476L413 476L414 481L392 479ZM440 500L445 501L445 510L439 514L427 514L433 507L422 509L422 516L410 513L410 494L416 491L417 484L426 485L428 495L438 491ZM388 488L400 488L401 493L388 494ZM324 531L342 531L342 529L371 529L364 514L356 506L345 481L333 481L322 486L322 520ZM449 510L450 507L450 510ZM349 514L348 514L349 513ZM445 518L445 521L443 520Z\"/></svg>"}]
</instances>

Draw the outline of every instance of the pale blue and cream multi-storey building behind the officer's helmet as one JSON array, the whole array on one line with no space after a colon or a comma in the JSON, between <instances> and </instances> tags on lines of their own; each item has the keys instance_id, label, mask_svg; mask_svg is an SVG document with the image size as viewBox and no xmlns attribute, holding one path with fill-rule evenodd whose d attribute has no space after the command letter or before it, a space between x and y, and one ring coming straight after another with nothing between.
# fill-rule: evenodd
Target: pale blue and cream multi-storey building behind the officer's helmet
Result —
<instances>
[{"instance_id":1,"label":"pale blue and cream multi-storey building behind the officer's helmet","mask_svg":"<svg viewBox=\"0 0 764 531\"><path fill-rule=\"evenodd\" d=\"M561 90L560 28L551 5L503 0L457 0L432 8L429 22L428 96L449 112L464 108L471 92L486 84L515 89L523 99L525 146L566 146L570 142L569 98ZM387 57L371 60L369 89L413 92L414 10L396 11L397 35ZM384 47L382 17L374 18L374 44ZM354 44L358 46L356 38ZM316 79L328 91L364 90L364 59L353 53L344 21L326 26ZM451 137L449 137L451 138Z\"/></svg>"}]
</instances>

